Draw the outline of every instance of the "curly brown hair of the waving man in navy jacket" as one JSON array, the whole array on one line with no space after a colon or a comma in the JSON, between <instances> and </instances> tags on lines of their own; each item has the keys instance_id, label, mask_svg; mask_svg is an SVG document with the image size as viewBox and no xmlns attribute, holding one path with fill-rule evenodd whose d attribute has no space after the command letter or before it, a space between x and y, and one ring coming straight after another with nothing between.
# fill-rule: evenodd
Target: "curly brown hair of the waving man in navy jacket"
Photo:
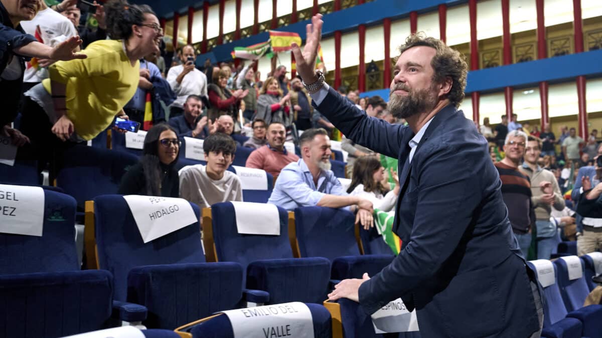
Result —
<instances>
[{"instance_id":1,"label":"curly brown hair of the waving man in navy jacket","mask_svg":"<svg viewBox=\"0 0 602 338\"><path fill-rule=\"evenodd\" d=\"M452 89L447 93L447 99L458 108L460 102L464 99L464 88L466 87L466 76L468 74L468 65L464 55L448 47L438 38L426 37L424 32L417 32L406 38L406 42L399 46L399 55L417 46L435 49L435 56L430 61L430 66L434 70L433 82L440 84L447 78L452 79Z\"/></svg>"}]
</instances>

